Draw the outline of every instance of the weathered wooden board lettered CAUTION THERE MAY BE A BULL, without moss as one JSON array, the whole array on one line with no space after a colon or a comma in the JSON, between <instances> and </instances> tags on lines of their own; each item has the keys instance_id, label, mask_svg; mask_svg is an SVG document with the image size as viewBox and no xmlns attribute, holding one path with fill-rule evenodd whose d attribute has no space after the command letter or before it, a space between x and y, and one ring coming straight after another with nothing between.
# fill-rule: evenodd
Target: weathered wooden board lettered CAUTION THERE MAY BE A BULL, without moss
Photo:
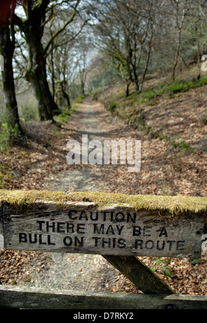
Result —
<instances>
[{"instance_id":1,"label":"weathered wooden board lettered CAUTION THERE MAY BE A BULL, without moss","mask_svg":"<svg viewBox=\"0 0 207 323\"><path fill-rule=\"evenodd\" d=\"M206 211L172 216L168 211L135 211L128 205L99 208L93 202L57 206L37 201L22 211L8 202L2 207L8 249L148 257L201 254Z\"/></svg>"}]
</instances>

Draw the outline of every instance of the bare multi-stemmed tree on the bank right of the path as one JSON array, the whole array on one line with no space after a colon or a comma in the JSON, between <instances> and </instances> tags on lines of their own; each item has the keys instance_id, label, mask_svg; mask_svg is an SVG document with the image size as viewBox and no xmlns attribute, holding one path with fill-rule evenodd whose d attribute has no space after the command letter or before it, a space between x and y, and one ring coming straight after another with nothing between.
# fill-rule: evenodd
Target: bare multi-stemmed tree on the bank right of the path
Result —
<instances>
[{"instance_id":1,"label":"bare multi-stemmed tree on the bank right of the path","mask_svg":"<svg viewBox=\"0 0 207 323\"><path fill-rule=\"evenodd\" d=\"M141 92L148 70L155 31L154 1L96 0L92 6L98 46L117 61L126 81L126 95L130 84Z\"/></svg>"}]
</instances>

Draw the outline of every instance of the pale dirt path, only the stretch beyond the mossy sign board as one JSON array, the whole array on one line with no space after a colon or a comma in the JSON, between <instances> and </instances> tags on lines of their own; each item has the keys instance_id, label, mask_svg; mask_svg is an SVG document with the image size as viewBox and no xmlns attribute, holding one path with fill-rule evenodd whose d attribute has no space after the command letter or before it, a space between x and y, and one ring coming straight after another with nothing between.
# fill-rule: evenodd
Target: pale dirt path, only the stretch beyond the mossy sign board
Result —
<instances>
[{"instance_id":1,"label":"pale dirt path, only the stretch beyond the mossy sign board","mask_svg":"<svg viewBox=\"0 0 207 323\"><path fill-rule=\"evenodd\" d=\"M88 141L103 140L105 133L100 104L92 101L90 97L86 98L84 103L81 104L72 122L77 125L77 130L72 139L81 143L82 135L88 135ZM103 184L100 181L102 168L103 166L97 165L95 167L90 165L85 167L73 166L72 171L66 170L59 174L59 184L57 184L56 190L65 192L103 190Z\"/></svg>"}]
</instances>

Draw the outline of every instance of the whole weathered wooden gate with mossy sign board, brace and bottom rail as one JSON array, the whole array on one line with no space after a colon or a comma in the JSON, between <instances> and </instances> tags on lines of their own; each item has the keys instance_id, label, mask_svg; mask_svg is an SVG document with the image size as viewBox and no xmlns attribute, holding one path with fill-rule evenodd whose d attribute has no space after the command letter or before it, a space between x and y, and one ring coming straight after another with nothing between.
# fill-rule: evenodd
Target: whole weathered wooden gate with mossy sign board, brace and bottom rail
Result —
<instances>
[{"instance_id":1,"label":"whole weathered wooden gate with mossy sign board, brace and bottom rail","mask_svg":"<svg viewBox=\"0 0 207 323\"><path fill-rule=\"evenodd\" d=\"M1 308L207 309L207 297L175 295L137 258L199 258L206 198L0 190L0 199L0 248L103 255L144 293L1 286Z\"/></svg>"}]
</instances>

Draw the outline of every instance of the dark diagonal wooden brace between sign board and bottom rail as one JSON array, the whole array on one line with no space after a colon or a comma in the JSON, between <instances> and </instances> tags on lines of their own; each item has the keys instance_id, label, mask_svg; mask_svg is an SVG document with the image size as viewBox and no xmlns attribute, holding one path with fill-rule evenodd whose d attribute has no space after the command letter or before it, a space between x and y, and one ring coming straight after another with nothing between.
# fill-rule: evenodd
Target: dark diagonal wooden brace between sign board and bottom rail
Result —
<instances>
[{"instance_id":1,"label":"dark diagonal wooden brace between sign board and bottom rail","mask_svg":"<svg viewBox=\"0 0 207 323\"><path fill-rule=\"evenodd\" d=\"M137 257L103 256L145 294L174 294L174 291L150 271Z\"/></svg>"}]
</instances>

